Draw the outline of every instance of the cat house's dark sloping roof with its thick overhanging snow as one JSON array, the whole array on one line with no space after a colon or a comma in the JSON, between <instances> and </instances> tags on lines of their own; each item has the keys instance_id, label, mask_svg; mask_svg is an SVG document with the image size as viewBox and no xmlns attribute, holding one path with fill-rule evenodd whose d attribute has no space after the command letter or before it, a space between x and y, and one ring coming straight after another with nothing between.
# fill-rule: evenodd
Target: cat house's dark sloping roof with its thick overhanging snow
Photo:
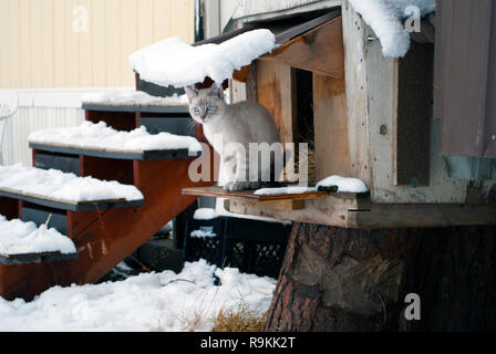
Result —
<instances>
[{"instance_id":1,"label":"cat house's dark sloping roof with its thick overhanging snow","mask_svg":"<svg viewBox=\"0 0 496 354\"><path fill-rule=\"evenodd\" d=\"M286 50L298 37L335 19L339 11L303 17L299 22L247 23L193 45L179 38L169 38L135 52L130 56L130 64L141 80L159 86L179 88L203 83L207 77L217 84L232 77L239 80L246 75L245 69L260 56L279 56L285 52L278 60L289 59L293 52L286 53Z\"/></svg>"}]
</instances>

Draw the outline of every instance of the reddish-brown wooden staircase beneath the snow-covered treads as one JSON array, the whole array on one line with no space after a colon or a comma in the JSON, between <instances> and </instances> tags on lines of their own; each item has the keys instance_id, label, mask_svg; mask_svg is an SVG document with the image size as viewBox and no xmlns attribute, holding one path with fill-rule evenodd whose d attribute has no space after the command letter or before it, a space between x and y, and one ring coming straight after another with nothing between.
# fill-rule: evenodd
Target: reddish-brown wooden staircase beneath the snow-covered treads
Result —
<instances>
[{"instance_id":1,"label":"reddish-brown wooden staircase beneath the snow-covered treads","mask_svg":"<svg viewBox=\"0 0 496 354\"><path fill-rule=\"evenodd\" d=\"M178 133L178 126L189 122L184 106L102 105L83 108L87 121L104 121L120 131L131 131L145 124L152 133L168 129L172 131L169 133ZM199 129L196 127L193 135L204 142ZM7 300L30 300L53 285L99 281L196 200L196 196L182 195L183 188L211 185L189 180L188 166L196 157L182 150L99 155L91 149L61 149L40 144L31 147L33 165L39 168L58 168L82 177L134 185L144 195L144 200L69 205L0 191L1 215L38 225L44 223L52 215L50 226L68 235L79 251L76 260L38 259L35 263L0 264L0 295Z\"/></svg>"}]
</instances>

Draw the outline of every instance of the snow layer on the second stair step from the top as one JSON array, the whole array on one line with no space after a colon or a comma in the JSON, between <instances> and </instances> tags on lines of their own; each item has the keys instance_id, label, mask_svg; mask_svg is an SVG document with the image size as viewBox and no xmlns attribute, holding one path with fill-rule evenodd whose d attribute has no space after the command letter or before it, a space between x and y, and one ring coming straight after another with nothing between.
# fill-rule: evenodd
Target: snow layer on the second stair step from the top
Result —
<instances>
[{"instance_id":1,"label":"snow layer on the second stair step from the top","mask_svg":"<svg viewBox=\"0 0 496 354\"><path fill-rule=\"evenodd\" d=\"M118 132L105 122L83 122L80 126L51 128L31 133L28 140L33 144L91 148L122 153L145 150L188 149L190 153L202 150L202 145L192 136L170 133L149 134L145 126L132 132Z\"/></svg>"}]
</instances>

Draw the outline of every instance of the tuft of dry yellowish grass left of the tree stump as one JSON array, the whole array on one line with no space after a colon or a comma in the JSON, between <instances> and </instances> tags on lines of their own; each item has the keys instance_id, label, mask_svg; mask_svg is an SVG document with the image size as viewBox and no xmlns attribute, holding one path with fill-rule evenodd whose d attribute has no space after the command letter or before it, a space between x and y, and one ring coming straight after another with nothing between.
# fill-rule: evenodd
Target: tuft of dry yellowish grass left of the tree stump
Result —
<instances>
[{"instance_id":1,"label":"tuft of dry yellowish grass left of the tree stump","mask_svg":"<svg viewBox=\"0 0 496 354\"><path fill-rule=\"evenodd\" d=\"M240 303L226 310L220 310L214 319L211 332L264 332L267 312L251 311Z\"/></svg>"}]
</instances>

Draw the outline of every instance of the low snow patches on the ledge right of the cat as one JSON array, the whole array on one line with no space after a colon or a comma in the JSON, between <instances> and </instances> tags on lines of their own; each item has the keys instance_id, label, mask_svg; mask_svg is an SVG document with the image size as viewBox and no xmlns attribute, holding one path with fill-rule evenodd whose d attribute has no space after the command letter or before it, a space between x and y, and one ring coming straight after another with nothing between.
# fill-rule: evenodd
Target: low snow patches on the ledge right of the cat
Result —
<instances>
[{"instance_id":1,"label":"low snow patches on the ledge right of the cat","mask_svg":"<svg viewBox=\"0 0 496 354\"><path fill-rule=\"evenodd\" d=\"M366 192L365 184L358 178L330 176L319 181L316 187L261 188L255 190L257 196L304 194L319 190L319 187L338 187L339 192Z\"/></svg>"}]
</instances>

